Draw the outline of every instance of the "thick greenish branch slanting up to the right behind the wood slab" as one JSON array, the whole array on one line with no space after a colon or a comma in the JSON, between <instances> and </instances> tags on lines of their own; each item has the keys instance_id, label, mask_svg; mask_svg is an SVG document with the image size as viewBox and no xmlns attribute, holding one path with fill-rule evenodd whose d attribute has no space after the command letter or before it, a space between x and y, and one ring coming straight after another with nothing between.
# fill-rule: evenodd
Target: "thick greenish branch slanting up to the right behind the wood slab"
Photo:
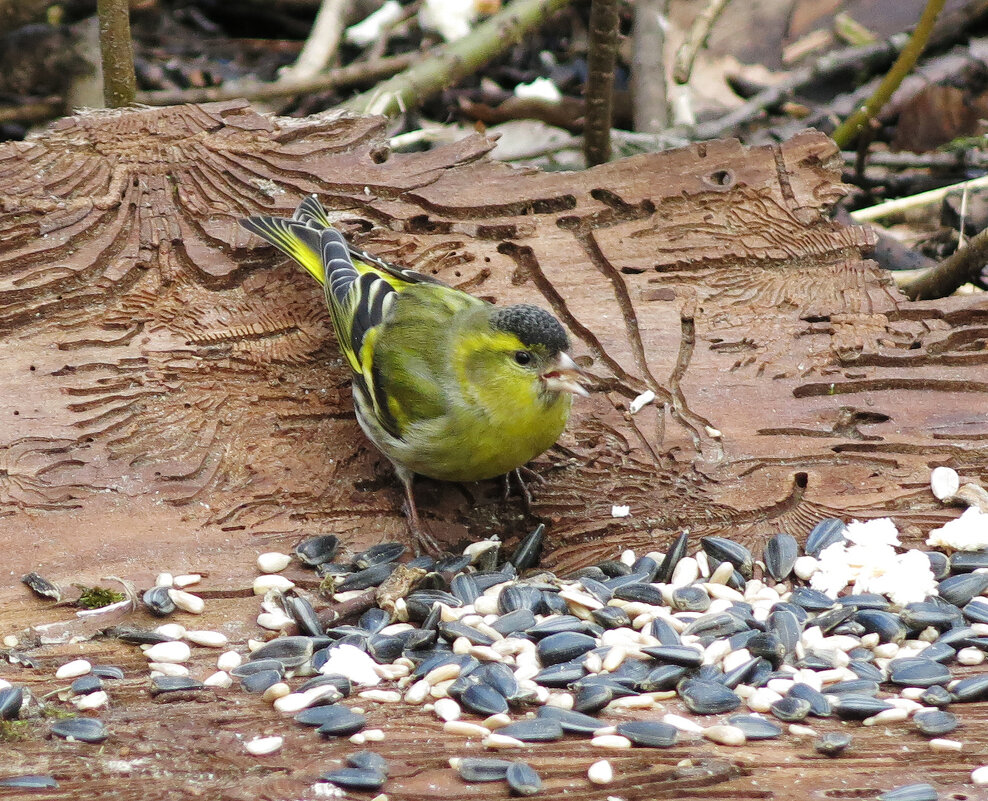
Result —
<instances>
[{"instance_id":1,"label":"thick greenish branch slanting up to the right behind the wood slab","mask_svg":"<svg viewBox=\"0 0 988 801\"><path fill-rule=\"evenodd\" d=\"M394 115L471 75L517 44L569 0L512 0L467 36L435 48L407 70L351 98L342 108L355 114Z\"/></svg>"}]
</instances>

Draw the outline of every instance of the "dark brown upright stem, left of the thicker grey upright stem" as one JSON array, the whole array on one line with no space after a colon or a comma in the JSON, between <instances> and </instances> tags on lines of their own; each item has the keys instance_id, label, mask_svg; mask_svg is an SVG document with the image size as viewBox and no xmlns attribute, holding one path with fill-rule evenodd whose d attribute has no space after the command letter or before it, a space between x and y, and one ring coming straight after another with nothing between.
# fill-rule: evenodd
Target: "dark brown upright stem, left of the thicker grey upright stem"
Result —
<instances>
[{"instance_id":1,"label":"dark brown upright stem, left of the thicker grey upright stem","mask_svg":"<svg viewBox=\"0 0 988 801\"><path fill-rule=\"evenodd\" d=\"M587 166L611 158L611 117L614 106L614 65L617 61L617 0L591 0L587 55L586 113L583 154Z\"/></svg>"}]
</instances>

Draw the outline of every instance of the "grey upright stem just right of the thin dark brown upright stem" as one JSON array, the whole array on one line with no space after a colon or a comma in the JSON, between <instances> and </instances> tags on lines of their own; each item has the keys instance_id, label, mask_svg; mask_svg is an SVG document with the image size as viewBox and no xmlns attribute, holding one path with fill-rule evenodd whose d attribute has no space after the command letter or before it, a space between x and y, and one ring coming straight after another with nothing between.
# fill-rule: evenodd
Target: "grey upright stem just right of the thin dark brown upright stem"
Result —
<instances>
[{"instance_id":1,"label":"grey upright stem just right of the thin dark brown upright stem","mask_svg":"<svg viewBox=\"0 0 988 801\"><path fill-rule=\"evenodd\" d=\"M665 67L669 0L637 0L634 14L631 96L635 130L658 133L669 127Z\"/></svg>"}]
</instances>

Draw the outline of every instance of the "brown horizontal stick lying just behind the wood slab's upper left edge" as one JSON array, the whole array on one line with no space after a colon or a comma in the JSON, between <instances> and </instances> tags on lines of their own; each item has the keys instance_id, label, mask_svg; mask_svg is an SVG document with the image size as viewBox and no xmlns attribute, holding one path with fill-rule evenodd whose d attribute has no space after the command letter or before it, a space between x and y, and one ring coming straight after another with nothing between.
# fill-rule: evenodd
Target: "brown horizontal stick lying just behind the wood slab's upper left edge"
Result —
<instances>
[{"instance_id":1,"label":"brown horizontal stick lying just behind the wood slab's upper left edge","mask_svg":"<svg viewBox=\"0 0 988 801\"><path fill-rule=\"evenodd\" d=\"M238 97L245 97L248 100L270 100L290 95L325 92L328 89L373 83L382 78L389 78L397 72L408 69L420 57L418 53L403 53L400 56L389 56L374 61L360 61L302 81L226 81L222 86L211 86L206 89L138 92L137 102L148 106L175 106L182 103L234 100Z\"/></svg>"}]
</instances>

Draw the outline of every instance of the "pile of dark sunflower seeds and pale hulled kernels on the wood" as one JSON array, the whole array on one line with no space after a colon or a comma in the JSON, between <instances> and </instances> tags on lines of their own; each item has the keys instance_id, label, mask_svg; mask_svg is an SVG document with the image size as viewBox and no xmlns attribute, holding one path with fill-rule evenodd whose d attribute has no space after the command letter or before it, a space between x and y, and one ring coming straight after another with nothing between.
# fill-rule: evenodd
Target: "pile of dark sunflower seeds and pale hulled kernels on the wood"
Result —
<instances>
[{"instance_id":1,"label":"pile of dark sunflower seeds and pale hulled kernels on the wood","mask_svg":"<svg viewBox=\"0 0 988 801\"><path fill-rule=\"evenodd\" d=\"M225 651L202 682L183 664L189 643L222 648L222 634L168 623L122 636L145 649L152 693L238 681L300 725L355 745L386 733L367 728L365 710L342 702L348 697L428 705L447 732L479 738L491 750L566 736L589 738L599 749L666 748L698 736L742 745L788 730L816 737L816 750L836 757L851 735L817 737L812 728L814 718L836 717L865 726L900 722L928 737L932 749L958 751L962 742L949 735L959 724L948 707L988 700L988 673L951 675L952 665L979 665L988 652L988 547L949 557L900 553L890 526L823 520L802 548L787 533L772 537L758 561L723 537L700 538L690 555L683 533L665 553L625 552L565 577L538 568L541 526L506 559L500 543L487 540L438 561L401 562L406 549L398 543L340 561L337 538L325 535L300 543L293 556L258 558L257 622L280 636L250 642L246 660ZM901 584L896 571L883 573L889 557L882 549L898 560ZM322 578L334 606L317 611L318 602L280 575L293 558ZM814 588L836 582L843 590L848 581L884 591L852 587L837 596ZM201 599L175 584L159 576L144 595L148 608L201 612ZM336 619L341 609L355 610L352 623ZM108 676L81 661L62 666L58 677L80 676L74 703L97 709ZM674 698L697 717L661 714L661 702ZM23 700L21 688L0 689L0 715L16 717ZM599 717L621 709L646 719L611 725ZM711 715L727 717L704 725ZM60 736L106 737L92 718L56 727ZM280 746L280 737L245 744L254 754ZM519 795L541 790L523 761L454 758L450 765L468 782L506 781ZM972 781L988 783L986 774L988 767L978 768ZM380 755L360 751L322 780L378 790L387 776ZM613 778L606 759L588 771L596 784ZM936 791L910 785L883 798L935 799Z\"/></svg>"}]
</instances>

